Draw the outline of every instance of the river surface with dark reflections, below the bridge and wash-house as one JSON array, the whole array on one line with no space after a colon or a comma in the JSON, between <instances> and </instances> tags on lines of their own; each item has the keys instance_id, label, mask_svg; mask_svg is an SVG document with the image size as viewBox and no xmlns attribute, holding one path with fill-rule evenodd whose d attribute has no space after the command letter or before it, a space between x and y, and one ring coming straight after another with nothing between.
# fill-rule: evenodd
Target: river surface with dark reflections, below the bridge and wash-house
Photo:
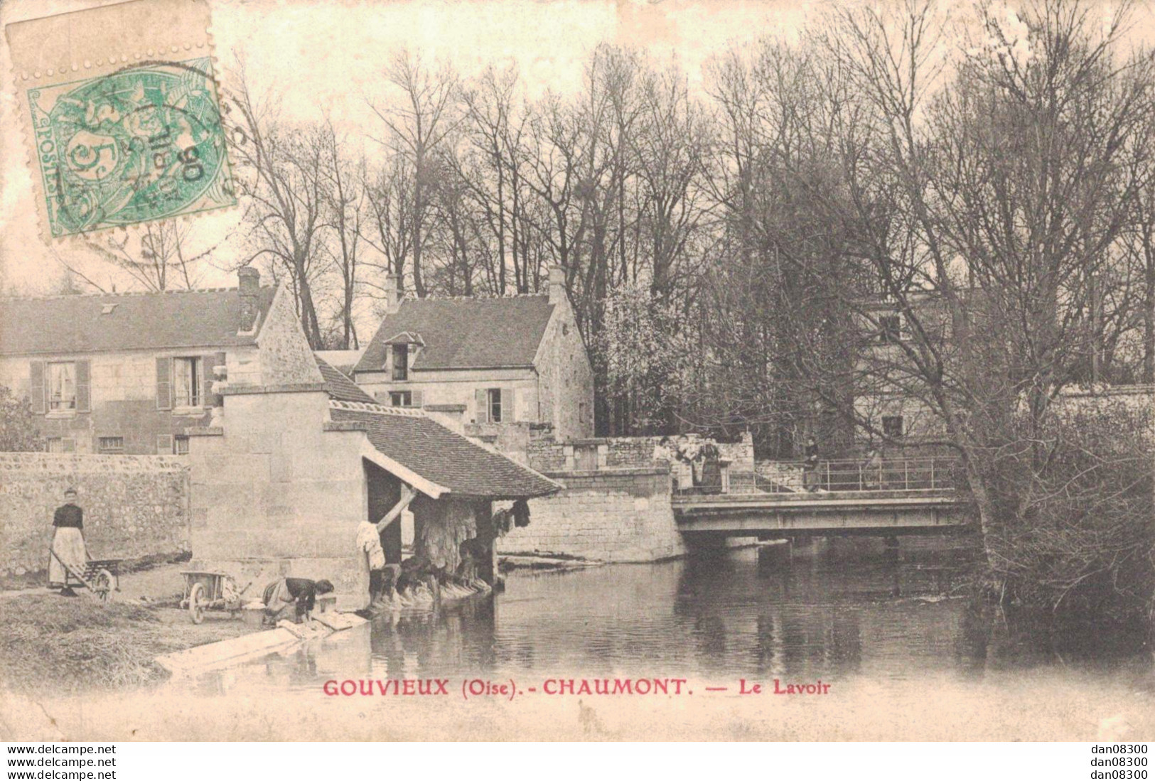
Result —
<instances>
[{"instance_id":1,"label":"river surface with dark reflections, below the bridge and wash-house","mask_svg":"<svg viewBox=\"0 0 1155 781\"><path fill-rule=\"evenodd\" d=\"M856 538L513 573L493 598L382 617L202 685L527 674L887 682L1061 663L957 596L973 558L964 537L907 538L897 555Z\"/></svg>"}]
</instances>

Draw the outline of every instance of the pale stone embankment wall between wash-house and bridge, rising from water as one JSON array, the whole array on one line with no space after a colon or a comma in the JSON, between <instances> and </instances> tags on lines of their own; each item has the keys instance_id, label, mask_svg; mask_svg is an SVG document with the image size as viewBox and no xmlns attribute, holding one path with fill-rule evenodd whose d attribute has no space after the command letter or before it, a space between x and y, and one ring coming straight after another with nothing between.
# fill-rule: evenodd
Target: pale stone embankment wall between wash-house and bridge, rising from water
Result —
<instances>
[{"instance_id":1,"label":"pale stone embankment wall between wash-house and bridge, rising from water","mask_svg":"<svg viewBox=\"0 0 1155 781\"><path fill-rule=\"evenodd\" d=\"M601 561L656 561L686 546L664 467L553 473L558 494L529 503L529 526L497 542L499 553L553 553Z\"/></svg>"}]
</instances>

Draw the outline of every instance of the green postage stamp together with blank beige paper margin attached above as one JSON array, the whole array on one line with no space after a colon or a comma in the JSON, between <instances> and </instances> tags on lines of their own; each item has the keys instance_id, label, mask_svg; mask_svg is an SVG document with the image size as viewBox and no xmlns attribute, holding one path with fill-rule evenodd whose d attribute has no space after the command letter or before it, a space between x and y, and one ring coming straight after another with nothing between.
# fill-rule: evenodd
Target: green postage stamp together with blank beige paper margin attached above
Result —
<instances>
[{"instance_id":1,"label":"green postage stamp together with blank beige paper margin attached above","mask_svg":"<svg viewBox=\"0 0 1155 781\"><path fill-rule=\"evenodd\" d=\"M237 202L207 0L5 25L33 202L65 239Z\"/></svg>"}]
</instances>

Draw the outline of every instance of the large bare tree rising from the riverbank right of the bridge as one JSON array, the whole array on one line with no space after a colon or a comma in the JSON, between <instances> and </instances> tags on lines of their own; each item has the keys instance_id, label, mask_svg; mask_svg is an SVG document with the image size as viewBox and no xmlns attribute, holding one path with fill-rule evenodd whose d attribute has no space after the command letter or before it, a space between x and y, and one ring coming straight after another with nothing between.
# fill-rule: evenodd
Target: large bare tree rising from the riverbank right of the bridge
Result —
<instances>
[{"instance_id":1,"label":"large bare tree rising from the riverbank right of the bridge","mask_svg":"<svg viewBox=\"0 0 1155 781\"><path fill-rule=\"evenodd\" d=\"M907 328L869 370L933 410L1004 575L1036 506L1052 403L1096 349L1094 281L1141 184L1126 172L1146 155L1131 141L1152 109L1149 77L1117 53L1127 9L1105 25L1091 10L1043 0L1022 18L988 16L934 96L942 27L931 6L843 13L829 49L880 131L859 173L894 178L918 236L909 255L881 241L869 253ZM859 185L860 216L877 194Z\"/></svg>"}]
</instances>

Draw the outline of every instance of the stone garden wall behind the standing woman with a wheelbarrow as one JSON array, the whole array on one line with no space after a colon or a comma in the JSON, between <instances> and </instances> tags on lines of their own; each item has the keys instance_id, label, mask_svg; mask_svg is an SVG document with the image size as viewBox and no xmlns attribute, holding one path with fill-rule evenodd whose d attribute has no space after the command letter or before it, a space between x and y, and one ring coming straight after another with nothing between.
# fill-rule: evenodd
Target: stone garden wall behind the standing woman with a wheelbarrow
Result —
<instances>
[{"instance_id":1,"label":"stone garden wall behind the standing woman with a wheelbarrow","mask_svg":"<svg viewBox=\"0 0 1155 781\"><path fill-rule=\"evenodd\" d=\"M189 550L188 471L159 455L0 453L0 577L44 571L52 514L75 488L92 558Z\"/></svg>"}]
</instances>

